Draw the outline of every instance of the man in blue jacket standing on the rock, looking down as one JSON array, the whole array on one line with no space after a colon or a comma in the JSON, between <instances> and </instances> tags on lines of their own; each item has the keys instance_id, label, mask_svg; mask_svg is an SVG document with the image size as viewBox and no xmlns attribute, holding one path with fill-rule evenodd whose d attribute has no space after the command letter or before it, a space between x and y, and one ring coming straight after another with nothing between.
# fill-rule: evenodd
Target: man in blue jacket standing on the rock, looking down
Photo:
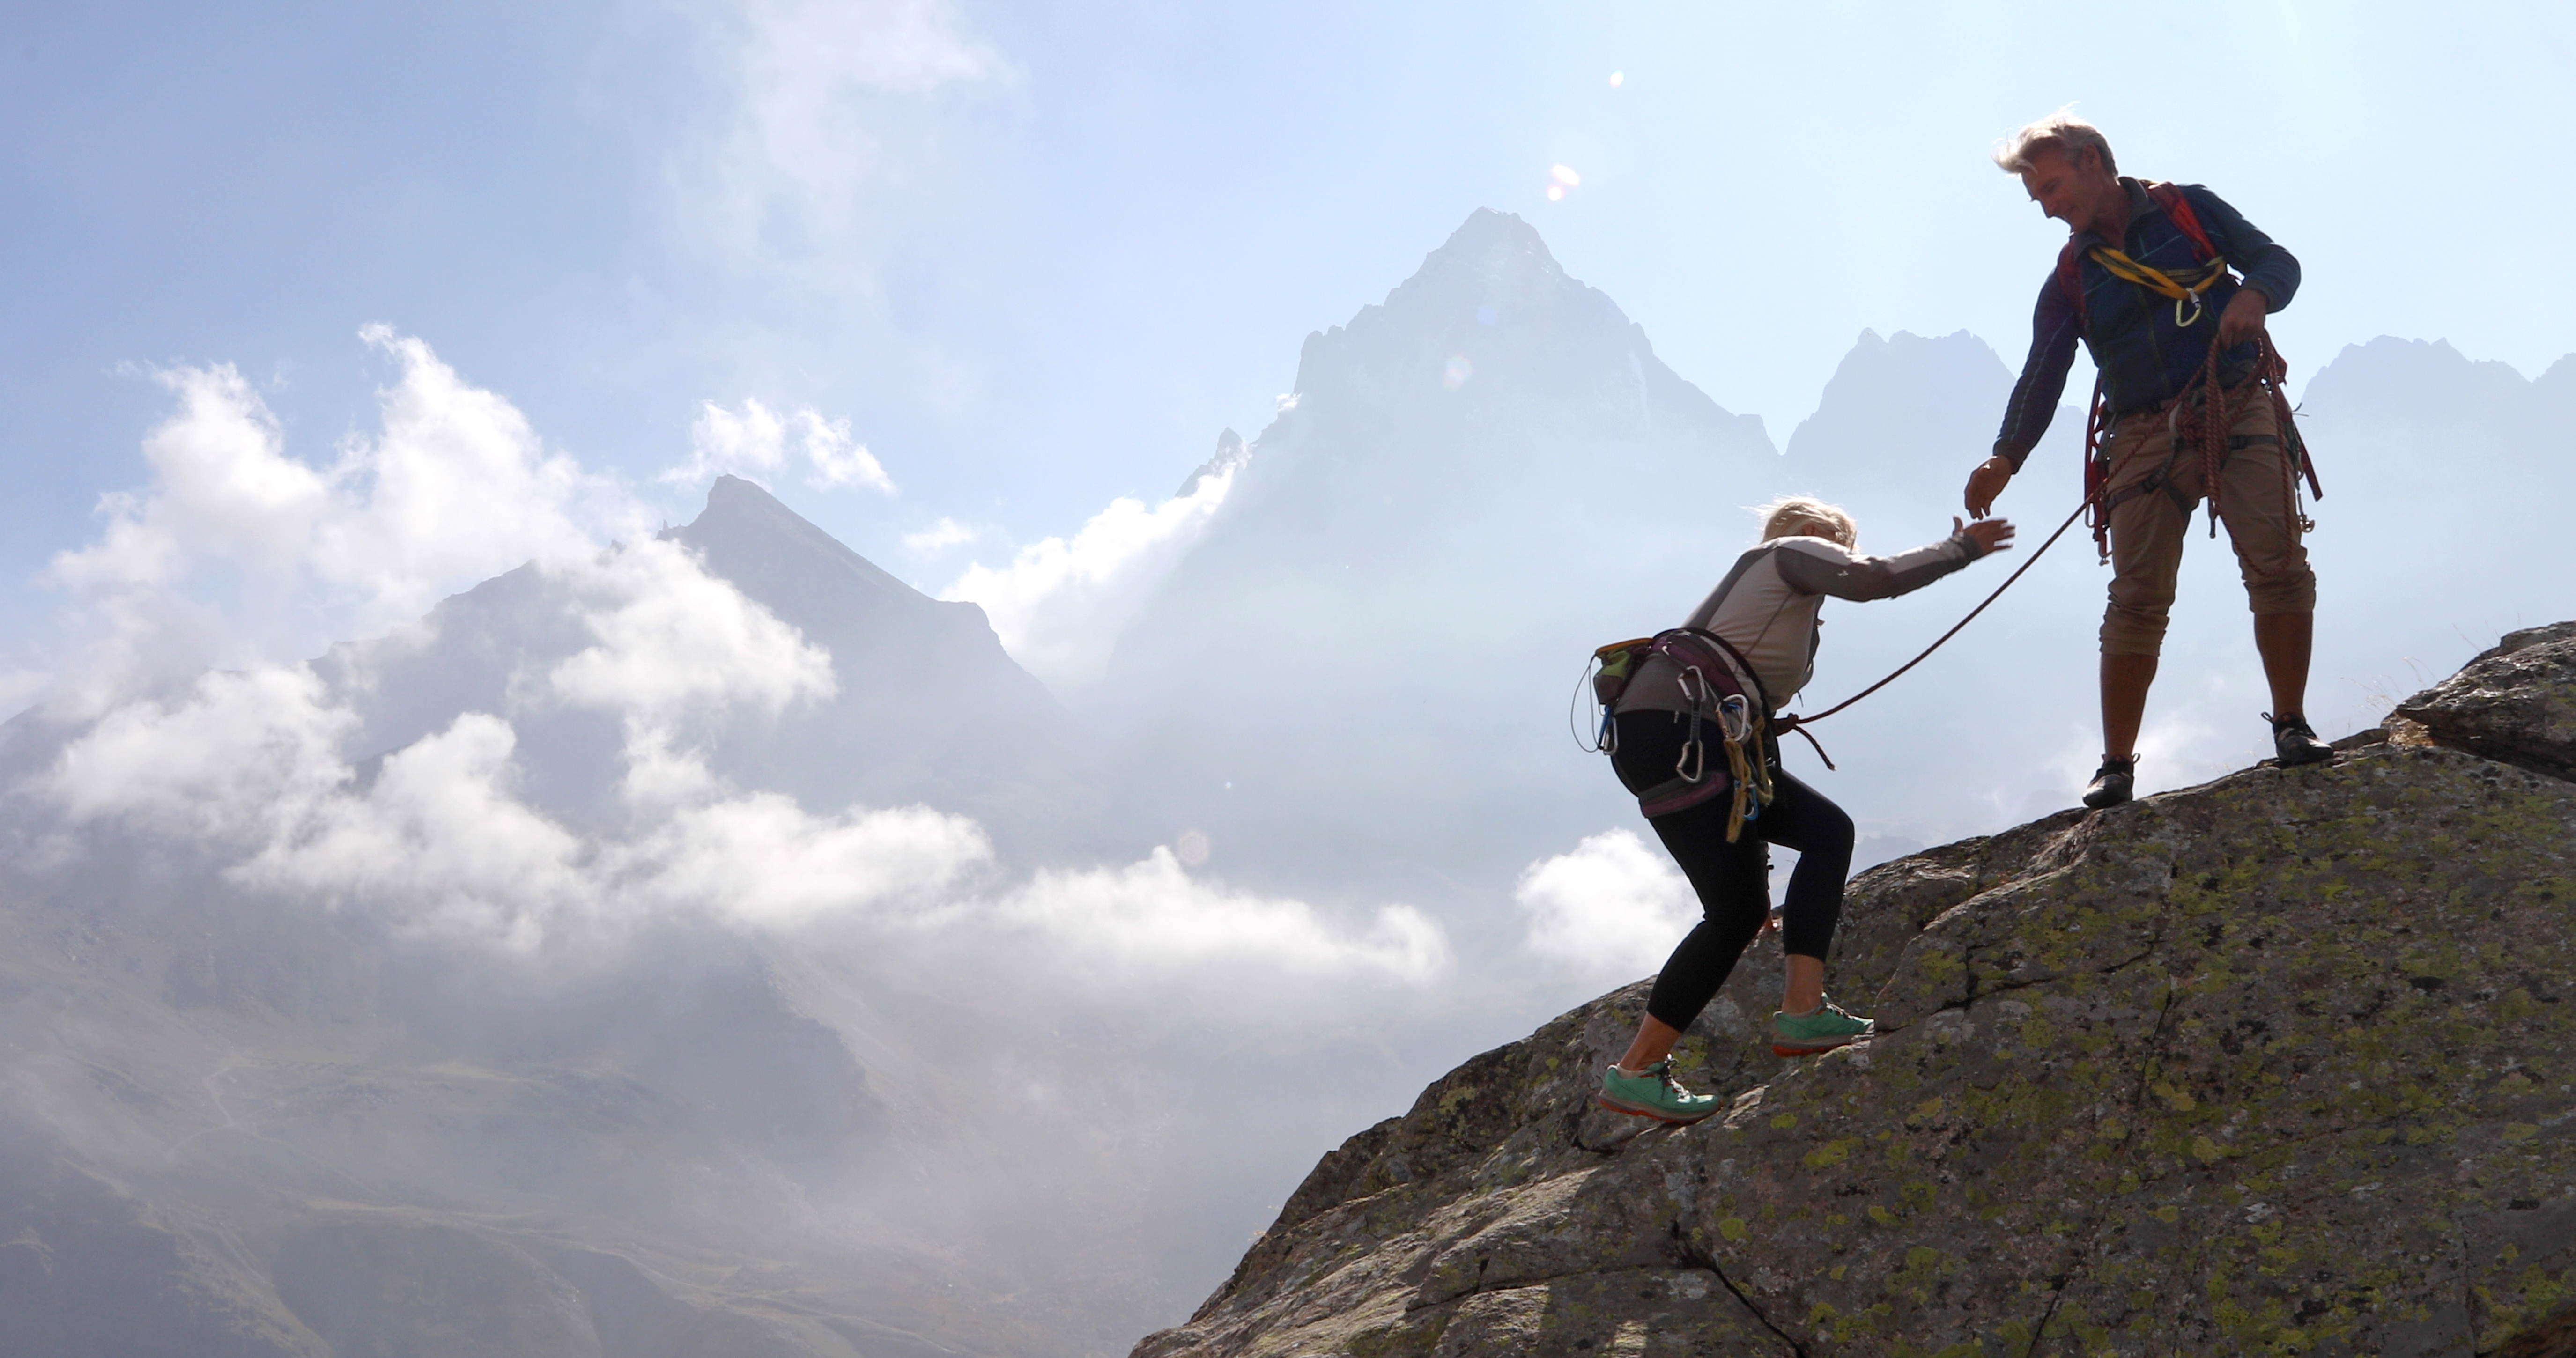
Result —
<instances>
[{"instance_id":1,"label":"man in blue jacket standing on the rock, looking down","mask_svg":"<svg viewBox=\"0 0 2576 1358\"><path fill-rule=\"evenodd\" d=\"M2123 178L2102 131L2069 113L2025 126L1994 160L2020 175L2030 198L2066 222L2071 237L2040 286L2030 358L2004 407L1994 456L1968 474L1968 513L1984 518L1994 508L2048 430L2076 338L2092 350L2110 407L2102 435L2112 554L2102 613L2102 768L2084 804L2130 799L2138 722L2156 683L2182 533L2213 490L2202 454L2177 438L2177 425L2221 410L2228 428L2213 513L2228 526L2254 608L2254 649L2272 685L2264 714L2272 745L2282 765L2331 758L2306 719L2316 572L2300 544L2293 454L2282 446L2269 392L2254 384L2264 314L2290 304L2298 260L2208 188ZM2200 381L2210 345L2218 345L2218 392Z\"/></svg>"}]
</instances>

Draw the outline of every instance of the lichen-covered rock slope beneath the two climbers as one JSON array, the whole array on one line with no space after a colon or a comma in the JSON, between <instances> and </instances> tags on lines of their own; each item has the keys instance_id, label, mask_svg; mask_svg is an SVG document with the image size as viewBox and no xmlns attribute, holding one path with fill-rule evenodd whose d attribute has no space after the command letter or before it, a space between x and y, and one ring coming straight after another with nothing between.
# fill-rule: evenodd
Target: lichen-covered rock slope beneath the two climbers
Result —
<instances>
[{"instance_id":1,"label":"lichen-covered rock slope beneath the two climbers","mask_svg":"<svg viewBox=\"0 0 2576 1358\"><path fill-rule=\"evenodd\" d=\"M2401 711L1865 874L1883 1033L1770 1059L1757 948L1700 1126L1589 1105L1643 984L1466 1062L1136 1355L2576 1353L2576 626Z\"/></svg>"}]
</instances>

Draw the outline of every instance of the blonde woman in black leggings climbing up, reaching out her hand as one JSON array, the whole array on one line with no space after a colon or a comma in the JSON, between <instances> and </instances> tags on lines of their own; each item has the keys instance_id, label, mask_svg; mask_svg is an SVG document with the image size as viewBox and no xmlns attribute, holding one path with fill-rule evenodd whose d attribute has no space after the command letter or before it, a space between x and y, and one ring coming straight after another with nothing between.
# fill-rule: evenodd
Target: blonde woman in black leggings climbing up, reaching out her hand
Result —
<instances>
[{"instance_id":1,"label":"blonde woman in black leggings climbing up, reaching out her hand","mask_svg":"<svg viewBox=\"0 0 2576 1358\"><path fill-rule=\"evenodd\" d=\"M2012 523L2002 518L1968 526L1953 518L1953 533L1932 546L1901 557L1860 557L1852 551L1860 536L1852 515L1834 505L1790 497L1754 513L1762 515L1762 544L1736 559L1685 626L1723 636L1752 665L1772 711L1806 688L1816 667L1816 613L1826 595L1893 598L2012 541ZM1690 706L1669 660L1638 665L1613 716L1618 747L1610 758L1631 791L1672 781L1692 729ZM1703 920L1654 979L1646 1020L1628 1054L1602 1072L1602 1108L1669 1124L1692 1124L1718 1111L1713 1095L1695 1095L1672 1077L1672 1044L1726 984L1736 956L1770 917L1770 845L1798 850L1780 910L1788 984L1780 1013L1772 1015L1772 1051L1808 1057L1870 1036L1868 1018L1824 997L1824 953L1842 915L1842 879L1852 868L1852 817L1780 770L1775 740L1765 742L1762 760L1770 765L1772 799L1759 817L1744 822L1736 843L1726 843L1731 796L1646 819L1698 892Z\"/></svg>"}]
</instances>

